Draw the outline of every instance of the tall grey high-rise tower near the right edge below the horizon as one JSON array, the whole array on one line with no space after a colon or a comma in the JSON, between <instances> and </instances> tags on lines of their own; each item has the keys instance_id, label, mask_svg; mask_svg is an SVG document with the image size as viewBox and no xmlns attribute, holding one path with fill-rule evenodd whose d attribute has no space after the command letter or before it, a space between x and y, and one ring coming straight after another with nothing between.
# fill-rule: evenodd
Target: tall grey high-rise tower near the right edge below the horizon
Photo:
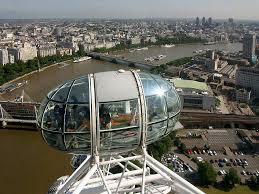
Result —
<instances>
[{"instance_id":1,"label":"tall grey high-rise tower near the right edge below the horizon","mask_svg":"<svg viewBox=\"0 0 259 194\"><path fill-rule=\"evenodd\" d=\"M255 34L245 34L243 38L243 57L253 60L255 57L255 47L256 47L256 36Z\"/></svg>"}]
</instances>

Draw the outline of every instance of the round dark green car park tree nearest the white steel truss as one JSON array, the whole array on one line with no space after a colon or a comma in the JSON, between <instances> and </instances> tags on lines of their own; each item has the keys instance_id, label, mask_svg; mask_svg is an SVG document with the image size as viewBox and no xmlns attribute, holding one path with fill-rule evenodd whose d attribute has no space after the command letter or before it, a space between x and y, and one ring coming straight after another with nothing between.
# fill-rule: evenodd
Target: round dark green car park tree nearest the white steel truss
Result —
<instances>
[{"instance_id":1,"label":"round dark green car park tree nearest the white steel truss","mask_svg":"<svg viewBox=\"0 0 259 194\"><path fill-rule=\"evenodd\" d=\"M217 180L217 172L207 161L198 163L198 175L203 186L213 185Z\"/></svg>"}]
</instances>

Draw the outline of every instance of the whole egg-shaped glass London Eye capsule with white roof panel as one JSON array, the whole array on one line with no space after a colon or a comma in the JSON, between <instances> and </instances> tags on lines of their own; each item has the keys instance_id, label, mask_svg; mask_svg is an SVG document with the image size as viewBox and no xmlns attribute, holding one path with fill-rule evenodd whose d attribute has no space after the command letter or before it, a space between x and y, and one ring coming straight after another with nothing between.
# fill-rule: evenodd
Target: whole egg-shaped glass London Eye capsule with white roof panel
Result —
<instances>
[{"instance_id":1,"label":"whole egg-shaped glass London Eye capsule with white roof panel","mask_svg":"<svg viewBox=\"0 0 259 194\"><path fill-rule=\"evenodd\" d=\"M165 137L176 128L180 109L175 88L162 77L110 71L67 81L50 91L37 122L51 147L110 155Z\"/></svg>"}]
</instances>

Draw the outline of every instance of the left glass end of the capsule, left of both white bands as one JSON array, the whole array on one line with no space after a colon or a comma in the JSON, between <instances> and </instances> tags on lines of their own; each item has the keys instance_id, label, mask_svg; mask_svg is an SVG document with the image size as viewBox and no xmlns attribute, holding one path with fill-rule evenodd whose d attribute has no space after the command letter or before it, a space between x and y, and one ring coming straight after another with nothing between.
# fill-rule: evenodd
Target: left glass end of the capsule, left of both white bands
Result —
<instances>
[{"instance_id":1,"label":"left glass end of the capsule, left of both white bands","mask_svg":"<svg viewBox=\"0 0 259 194\"><path fill-rule=\"evenodd\" d=\"M37 121L48 145L85 153L91 148L90 114L89 81L84 76L49 92L39 108Z\"/></svg>"}]
</instances>

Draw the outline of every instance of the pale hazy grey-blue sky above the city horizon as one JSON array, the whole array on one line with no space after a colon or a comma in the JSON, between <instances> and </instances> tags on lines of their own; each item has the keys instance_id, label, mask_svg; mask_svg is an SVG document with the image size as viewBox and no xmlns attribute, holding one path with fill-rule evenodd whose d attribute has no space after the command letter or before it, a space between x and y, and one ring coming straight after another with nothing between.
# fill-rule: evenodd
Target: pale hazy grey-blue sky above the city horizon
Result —
<instances>
[{"instance_id":1,"label":"pale hazy grey-blue sky above the city horizon","mask_svg":"<svg viewBox=\"0 0 259 194\"><path fill-rule=\"evenodd\" d=\"M259 20L259 0L0 0L1 19L196 16Z\"/></svg>"}]
</instances>

